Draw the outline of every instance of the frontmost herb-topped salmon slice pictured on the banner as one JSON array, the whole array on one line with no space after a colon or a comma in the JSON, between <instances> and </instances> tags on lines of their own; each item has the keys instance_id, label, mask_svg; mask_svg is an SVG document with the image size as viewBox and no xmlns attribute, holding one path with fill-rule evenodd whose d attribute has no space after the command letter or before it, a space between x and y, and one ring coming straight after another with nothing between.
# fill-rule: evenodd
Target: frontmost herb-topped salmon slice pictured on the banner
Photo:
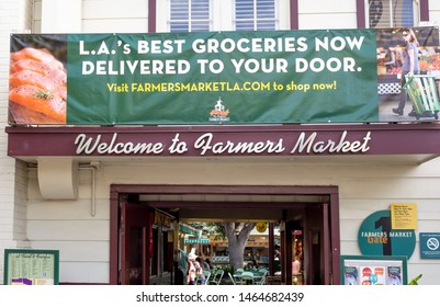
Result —
<instances>
[{"instance_id":1,"label":"frontmost herb-topped salmon slice pictured on the banner","mask_svg":"<svg viewBox=\"0 0 440 307\"><path fill-rule=\"evenodd\" d=\"M52 94L35 86L24 84L10 90L9 100L66 123L66 101L56 93Z\"/></svg>"}]
</instances>

